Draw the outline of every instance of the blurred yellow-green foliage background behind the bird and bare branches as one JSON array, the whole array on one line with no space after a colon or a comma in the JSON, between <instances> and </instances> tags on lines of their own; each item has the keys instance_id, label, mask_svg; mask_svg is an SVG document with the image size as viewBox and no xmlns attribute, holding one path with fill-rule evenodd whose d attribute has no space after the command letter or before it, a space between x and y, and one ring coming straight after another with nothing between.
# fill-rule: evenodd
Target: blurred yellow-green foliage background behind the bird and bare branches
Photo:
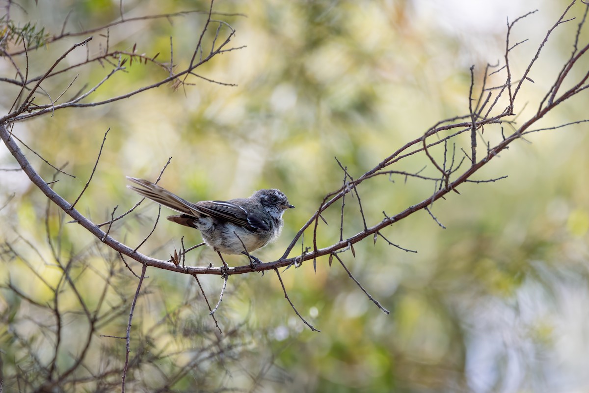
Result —
<instances>
[{"instance_id":1,"label":"blurred yellow-green foliage background behind the bird and bare branches","mask_svg":"<svg viewBox=\"0 0 589 393\"><path fill-rule=\"evenodd\" d=\"M61 30L65 9L71 9L67 28L74 31L120 16L118 2L26 3L22 6L28 14L13 7L11 18L42 26L39 31L52 34ZM475 6L457 3L457 9ZM480 3L476 6L481 16L488 15L475 26L457 11L442 12L429 9L431 4L409 0L216 2L217 11L247 15L215 16L236 29L233 46L246 48L216 57L197 72L236 87L193 77L188 81L195 85L178 90L171 85L160 87L114 104L57 111L51 117L16 124L15 134L55 166L67 163L64 170L76 178L58 176L54 188L73 201L90 176L105 131L111 128L91 186L77 206L97 223L107 221L114 206L122 213L137 202L137 196L125 189L124 176L155 179L168 157L172 160L161 184L188 200L230 199L277 187L296 209L285 214L282 237L257 253L263 260L274 260L323 196L342 183L343 173L333 157L359 177L442 118L468 113L469 66L475 64L480 76L487 62L501 58L505 16L513 20L524 14L507 7L491 12L493 5ZM544 27L562 12L554 3L535 4L538 15L519 25L515 41L530 38L530 42L514 54L515 74L525 70L530 53L544 37ZM208 9L206 2L187 1L123 5L127 18ZM583 6L575 7L574 14L581 15ZM158 60L169 61L172 37L174 62L186 66L204 20L203 15L187 14L130 22L110 29L109 45L131 51L137 44L138 53L160 53ZM538 97L554 80L554 70L570 55L562 47L569 48L575 25L562 30L544 49L543 61L532 75L535 84L522 92L525 97L520 97L517 109L522 118L535 110ZM84 38L31 51L30 74L42 74L68 45ZM95 35L88 51L97 53L101 45L105 37ZM17 48L8 48L12 49ZM74 52L68 61L74 64L85 56L85 51ZM84 84L97 83L109 70L107 66L79 70L72 94ZM133 62L92 99L124 94L162 77L163 70ZM62 91L71 79L54 78L44 82L44 88ZM2 108L10 107L18 89L5 88ZM525 101L534 108L524 108ZM586 115L586 99L575 100L545 122L564 124ZM366 239L355 246L356 257L342 254L355 278L391 315L379 311L336 260L329 268L327 258L319 259L316 272L311 263L305 263L282 273L290 299L320 333L309 331L297 319L273 272L232 276L218 318L226 334L232 329L239 332L228 338L236 340L234 351L221 359L222 370L206 374L194 366L170 389L193 391L195 381L204 384L199 387L203 391L219 385L243 388L253 381L260 382L258 391L285 392L587 389L589 380L580 373L589 354L584 340L589 320L584 307L589 298L586 129L579 125L545 131L531 135L530 143L512 145L477 177L508 175L507 179L465 184L460 195L434 204L432 212L446 229L419 212L383 230L393 243L418 253L386 245L382 239L376 244ZM28 157L44 179L52 179L54 169L33 154ZM9 166L14 166L11 157L0 149L0 167ZM423 157L401 161L395 170L416 172L424 166L435 173ZM371 225L382 219L383 210L391 216L433 190L431 183L398 177L363 183L359 192ZM122 262L115 258L105 262L110 260L104 256L107 252L95 246L88 233L75 224L60 229L59 213L53 207L45 226L47 201L24 174L0 172L0 206L13 193L14 199L0 210L4 243L0 348L5 375L16 372L17 360L22 360L10 333L13 329L33 348L41 342L51 345L51 341L36 341L41 332L23 318L31 306L6 288L10 282L39 303L51 300L51 293L31 277L31 269L23 262L32 261L49 282L59 280L55 266L44 262L50 259L46 228L52 236L61 233L64 259L84 256L84 265L76 268L88 303L98 302L100 293L93 284L94 275L107 276L109 269L120 273L110 302L115 303L121 294L128 302L136 288ZM362 221L356 200L350 197L346 204L344 236L350 236L362 230ZM163 210L162 215L166 214ZM319 247L339 240L339 214L339 207L326 212L329 226L320 223ZM156 215L155 204L144 203L136 214L115 225L111 235L137 245L150 232ZM174 247L180 248L182 236L187 246L201 241L197 231L160 219L141 251L167 259ZM52 242L57 244L56 239ZM11 257L9 244L18 247L21 257ZM300 245L294 252L300 252ZM217 263L213 252L199 249L187 264L207 265L211 260ZM244 263L241 257L227 261ZM131 266L135 272L140 270ZM158 339L137 351L175 353L158 359L162 374L170 375L175 372L174 363L183 361L182 351L209 343L216 331L193 278L154 269L148 269L148 276L150 289L138 303L131 346L155 329ZM200 280L214 304L221 279ZM170 310L184 304L188 293L199 303L186 304L170 318L174 321L168 321ZM75 309L73 295L64 301ZM17 323L15 318L21 319ZM121 312L97 335L124 335L126 318ZM68 322L72 331L75 319L72 316ZM108 351L124 358L120 342L98 336L95 341L103 347L94 349L88 364L98 364ZM72 342L71 352L76 348ZM68 356L63 358L67 364ZM156 386L158 375L144 371L133 378Z\"/></svg>"}]
</instances>

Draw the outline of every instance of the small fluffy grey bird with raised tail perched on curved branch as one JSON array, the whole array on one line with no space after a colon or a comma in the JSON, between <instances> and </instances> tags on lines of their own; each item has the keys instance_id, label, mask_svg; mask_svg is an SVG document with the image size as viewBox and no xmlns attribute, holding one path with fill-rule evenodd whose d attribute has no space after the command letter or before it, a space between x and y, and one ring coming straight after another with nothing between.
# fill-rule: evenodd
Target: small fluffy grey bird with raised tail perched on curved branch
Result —
<instances>
[{"instance_id":1,"label":"small fluffy grey bird with raised tail perched on curved branch","mask_svg":"<svg viewBox=\"0 0 589 393\"><path fill-rule=\"evenodd\" d=\"M168 220L200 230L204 243L224 254L245 254L276 240L284 224L282 214L293 209L276 189L258 190L249 198L203 200L191 203L157 184L127 176L131 190L182 214ZM245 249L244 249L245 247ZM256 257L252 257L259 262Z\"/></svg>"}]
</instances>

